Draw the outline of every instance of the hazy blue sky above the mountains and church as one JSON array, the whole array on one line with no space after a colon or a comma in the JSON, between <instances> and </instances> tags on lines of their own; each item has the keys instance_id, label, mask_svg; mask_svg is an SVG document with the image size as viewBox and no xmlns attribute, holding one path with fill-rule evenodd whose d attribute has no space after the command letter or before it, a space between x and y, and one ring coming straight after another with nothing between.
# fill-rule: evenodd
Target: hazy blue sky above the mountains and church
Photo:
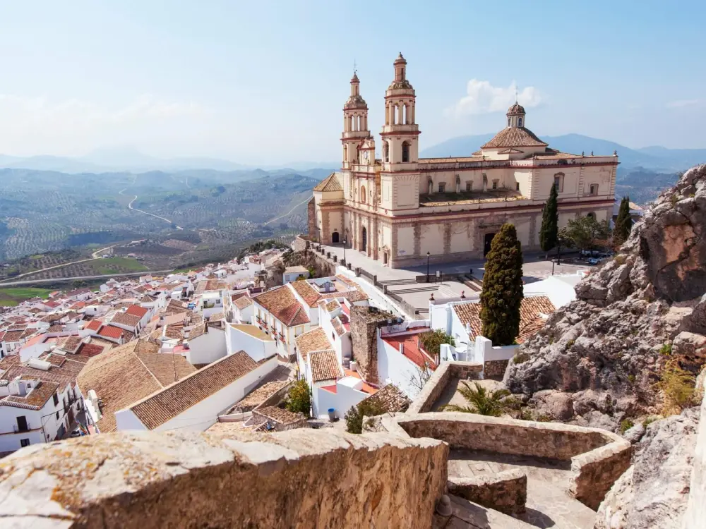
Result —
<instances>
[{"instance_id":1,"label":"hazy blue sky above the mountains and church","mask_svg":"<svg viewBox=\"0 0 706 529\"><path fill-rule=\"evenodd\" d=\"M498 4L503 4L502 6ZM340 157L402 51L421 148L502 128L706 147L703 2L0 1L0 153Z\"/></svg>"}]
</instances>

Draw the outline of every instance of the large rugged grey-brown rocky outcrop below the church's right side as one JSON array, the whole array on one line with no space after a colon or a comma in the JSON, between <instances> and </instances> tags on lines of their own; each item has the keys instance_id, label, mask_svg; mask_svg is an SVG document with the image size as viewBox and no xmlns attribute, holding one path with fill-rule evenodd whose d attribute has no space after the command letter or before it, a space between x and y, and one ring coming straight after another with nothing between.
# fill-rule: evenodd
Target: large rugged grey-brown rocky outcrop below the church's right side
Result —
<instances>
[{"instance_id":1,"label":"large rugged grey-brown rocky outcrop below the church's right side","mask_svg":"<svg viewBox=\"0 0 706 529\"><path fill-rule=\"evenodd\" d=\"M666 360L706 360L706 166L687 171L620 253L576 287L510 363L505 384L558 420L616 430L659 411ZM553 391L546 391L553 390Z\"/></svg>"}]
</instances>

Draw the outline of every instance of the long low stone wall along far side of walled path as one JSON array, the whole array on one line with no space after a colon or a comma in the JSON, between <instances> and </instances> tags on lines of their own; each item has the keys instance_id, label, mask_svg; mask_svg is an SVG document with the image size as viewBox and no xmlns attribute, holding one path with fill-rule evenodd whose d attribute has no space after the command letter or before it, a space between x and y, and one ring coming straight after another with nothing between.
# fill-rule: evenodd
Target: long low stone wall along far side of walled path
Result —
<instances>
[{"instance_id":1,"label":"long low stone wall along far side of walled path","mask_svg":"<svg viewBox=\"0 0 706 529\"><path fill-rule=\"evenodd\" d=\"M447 442L453 449L499 454L570 459L618 440L630 448L629 442L610 432L558 422L436 412L401 415L397 423L410 437L432 437Z\"/></svg>"}]
</instances>

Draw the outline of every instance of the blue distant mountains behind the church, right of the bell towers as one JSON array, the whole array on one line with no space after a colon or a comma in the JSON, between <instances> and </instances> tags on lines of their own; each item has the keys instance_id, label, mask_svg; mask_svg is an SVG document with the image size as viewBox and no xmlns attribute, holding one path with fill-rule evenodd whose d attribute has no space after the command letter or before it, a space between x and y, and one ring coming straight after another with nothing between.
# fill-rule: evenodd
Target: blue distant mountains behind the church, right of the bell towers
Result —
<instances>
[{"instance_id":1,"label":"blue distant mountains behind the church, right of the bell towers","mask_svg":"<svg viewBox=\"0 0 706 529\"><path fill-rule=\"evenodd\" d=\"M493 138L494 134L479 134L472 136L457 136L445 142L428 147L419 153L424 158L443 158L450 156L469 156L481 145ZM581 154L613 154L618 152L618 158L623 169L643 167L658 171L683 171L690 166L706 162L706 149L667 149L666 147L642 147L630 149L609 140L590 138L581 134L565 134L561 136L539 136L549 147L563 152Z\"/></svg>"}]
</instances>

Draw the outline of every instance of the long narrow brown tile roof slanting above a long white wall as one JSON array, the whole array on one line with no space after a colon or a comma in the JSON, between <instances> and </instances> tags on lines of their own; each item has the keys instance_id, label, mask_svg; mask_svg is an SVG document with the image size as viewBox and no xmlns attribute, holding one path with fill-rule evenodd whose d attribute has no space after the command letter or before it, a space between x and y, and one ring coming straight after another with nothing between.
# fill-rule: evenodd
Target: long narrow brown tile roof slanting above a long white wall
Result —
<instances>
[{"instance_id":1,"label":"long narrow brown tile roof slanting above a long white wall","mask_svg":"<svg viewBox=\"0 0 706 529\"><path fill-rule=\"evenodd\" d=\"M180 413L232 384L258 367L258 363L244 351L216 360L169 387L158 390L130 409L137 418L154 430Z\"/></svg>"}]
</instances>

